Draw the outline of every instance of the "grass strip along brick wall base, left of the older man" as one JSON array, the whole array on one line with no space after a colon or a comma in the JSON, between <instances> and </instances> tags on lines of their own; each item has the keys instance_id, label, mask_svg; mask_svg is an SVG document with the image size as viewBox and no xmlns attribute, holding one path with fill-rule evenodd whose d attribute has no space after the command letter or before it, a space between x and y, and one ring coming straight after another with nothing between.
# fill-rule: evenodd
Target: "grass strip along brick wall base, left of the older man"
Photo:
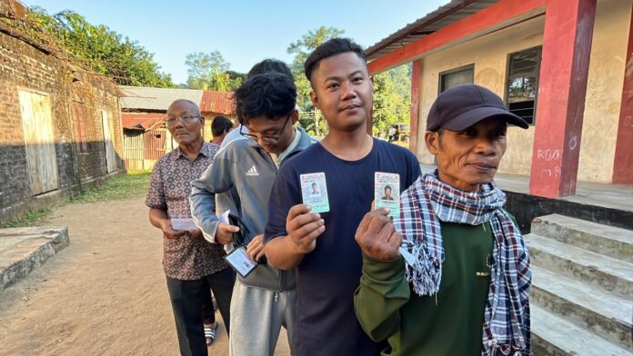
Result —
<instances>
[{"instance_id":1,"label":"grass strip along brick wall base, left of the older man","mask_svg":"<svg viewBox=\"0 0 633 356\"><path fill-rule=\"evenodd\" d=\"M86 189L73 198L73 203L100 203L144 196L149 186L149 173L112 177L99 188Z\"/></svg>"}]
</instances>

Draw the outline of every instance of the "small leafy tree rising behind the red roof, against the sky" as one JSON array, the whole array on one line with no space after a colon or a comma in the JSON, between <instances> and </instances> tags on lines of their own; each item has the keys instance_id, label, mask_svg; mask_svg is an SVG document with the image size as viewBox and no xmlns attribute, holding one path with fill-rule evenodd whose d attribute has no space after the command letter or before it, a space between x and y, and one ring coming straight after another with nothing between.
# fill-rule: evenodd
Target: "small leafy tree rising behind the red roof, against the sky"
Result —
<instances>
[{"instance_id":1,"label":"small leafy tree rising behind the red roof, against the sky","mask_svg":"<svg viewBox=\"0 0 633 356\"><path fill-rule=\"evenodd\" d=\"M186 82L191 89L230 92L246 79L246 74L231 71L230 64L218 51L187 54L185 64L189 74Z\"/></svg>"}]
</instances>

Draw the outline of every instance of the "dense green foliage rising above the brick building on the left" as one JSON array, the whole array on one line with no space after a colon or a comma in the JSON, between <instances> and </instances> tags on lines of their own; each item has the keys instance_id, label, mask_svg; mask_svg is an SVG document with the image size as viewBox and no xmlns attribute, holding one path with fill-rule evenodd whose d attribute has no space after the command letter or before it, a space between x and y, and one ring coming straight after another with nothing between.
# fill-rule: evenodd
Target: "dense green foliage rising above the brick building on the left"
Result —
<instances>
[{"instance_id":1,"label":"dense green foliage rising above the brick building on the left","mask_svg":"<svg viewBox=\"0 0 633 356\"><path fill-rule=\"evenodd\" d=\"M174 86L171 76L160 72L154 54L142 45L106 25L92 25L75 12L48 15L44 9L32 7L26 24L29 35L62 51L60 55L86 70L114 77L117 84Z\"/></svg>"}]
</instances>

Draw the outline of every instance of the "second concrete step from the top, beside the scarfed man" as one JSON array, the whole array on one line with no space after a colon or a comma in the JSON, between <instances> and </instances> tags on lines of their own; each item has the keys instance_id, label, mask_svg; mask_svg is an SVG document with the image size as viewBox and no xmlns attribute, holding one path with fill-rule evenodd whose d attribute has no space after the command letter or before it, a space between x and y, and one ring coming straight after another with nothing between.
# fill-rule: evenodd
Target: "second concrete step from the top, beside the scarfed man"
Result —
<instances>
[{"instance_id":1,"label":"second concrete step from the top, beside the scarfed man","mask_svg":"<svg viewBox=\"0 0 633 356\"><path fill-rule=\"evenodd\" d=\"M526 235L534 265L583 282L597 284L620 297L633 295L633 263L570 246L534 233Z\"/></svg>"}]
</instances>

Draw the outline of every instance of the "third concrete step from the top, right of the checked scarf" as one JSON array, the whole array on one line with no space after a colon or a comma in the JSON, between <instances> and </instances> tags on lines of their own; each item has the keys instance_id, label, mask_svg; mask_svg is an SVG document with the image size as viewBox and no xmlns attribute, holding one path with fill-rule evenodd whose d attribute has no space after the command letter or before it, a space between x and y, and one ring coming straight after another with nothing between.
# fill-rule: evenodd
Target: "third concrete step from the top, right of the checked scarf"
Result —
<instances>
[{"instance_id":1,"label":"third concrete step from the top, right of the checked scarf","mask_svg":"<svg viewBox=\"0 0 633 356\"><path fill-rule=\"evenodd\" d=\"M633 347L630 299L532 265L530 301L620 347Z\"/></svg>"}]
</instances>

